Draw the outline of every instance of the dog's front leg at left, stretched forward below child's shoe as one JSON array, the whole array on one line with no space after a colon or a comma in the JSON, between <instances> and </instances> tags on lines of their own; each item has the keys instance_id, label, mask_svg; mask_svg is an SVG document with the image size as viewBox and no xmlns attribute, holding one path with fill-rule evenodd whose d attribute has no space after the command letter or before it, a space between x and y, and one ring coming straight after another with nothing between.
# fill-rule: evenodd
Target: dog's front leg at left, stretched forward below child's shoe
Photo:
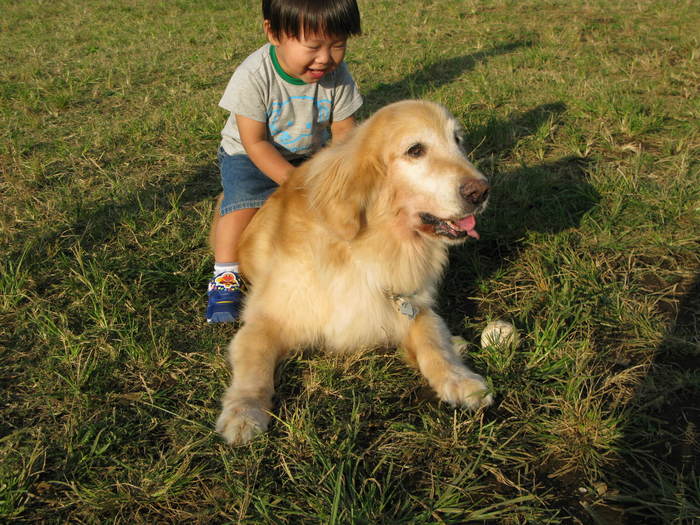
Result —
<instances>
[{"instance_id":1,"label":"dog's front leg at left, stretched forward below child's shoe","mask_svg":"<svg viewBox=\"0 0 700 525\"><path fill-rule=\"evenodd\" d=\"M222 399L216 430L231 445L265 432L275 392L275 366L284 353L276 325L264 319L244 324L229 346L233 380Z\"/></svg>"}]
</instances>

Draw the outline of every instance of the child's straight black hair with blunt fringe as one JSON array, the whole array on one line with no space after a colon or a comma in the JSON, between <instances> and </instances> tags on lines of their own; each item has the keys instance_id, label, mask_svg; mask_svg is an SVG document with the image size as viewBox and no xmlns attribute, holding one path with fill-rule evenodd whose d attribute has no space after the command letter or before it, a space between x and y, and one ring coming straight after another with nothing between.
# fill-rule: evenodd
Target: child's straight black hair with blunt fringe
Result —
<instances>
[{"instance_id":1,"label":"child's straight black hair with blunt fringe","mask_svg":"<svg viewBox=\"0 0 700 525\"><path fill-rule=\"evenodd\" d=\"M263 18L277 39L303 35L347 38L362 32L356 0L263 0L262 4Z\"/></svg>"}]
</instances>

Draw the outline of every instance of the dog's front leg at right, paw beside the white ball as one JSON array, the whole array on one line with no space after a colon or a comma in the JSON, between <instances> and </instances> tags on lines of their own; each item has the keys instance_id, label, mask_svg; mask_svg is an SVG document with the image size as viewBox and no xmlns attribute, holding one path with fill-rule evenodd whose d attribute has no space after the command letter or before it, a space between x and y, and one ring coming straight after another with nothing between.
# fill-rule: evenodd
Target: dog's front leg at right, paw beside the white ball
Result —
<instances>
[{"instance_id":1,"label":"dog's front leg at right, paw beside the white ball","mask_svg":"<svg viewBox=\"0 0 700 525\"><path fill-rule=\"evenodd\" d=\"M441 400L473 410L493 403L484 378L462 362L444 321L433 311L416 317L403 346Z\"/></svg>"}]
</instances>

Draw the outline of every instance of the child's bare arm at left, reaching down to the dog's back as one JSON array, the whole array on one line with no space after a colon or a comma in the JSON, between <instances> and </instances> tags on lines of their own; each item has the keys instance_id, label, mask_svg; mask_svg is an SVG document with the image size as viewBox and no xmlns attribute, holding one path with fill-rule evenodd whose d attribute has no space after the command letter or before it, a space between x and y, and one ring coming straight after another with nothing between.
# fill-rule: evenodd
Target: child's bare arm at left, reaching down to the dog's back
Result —
<instances>
[{"instance_id":1,"label":"child's bare arm at left, reaching down to the dog's back","mask_svg":"<svg viewBox=\"0 0 700 525\"><path fill-rule=\"evenodd\" d=\"M277 184L286 181L294 166L267 140L267 125L241 115L236 115L236 124L243 148L253 164Z\"/></svg>"}]
</instances>

